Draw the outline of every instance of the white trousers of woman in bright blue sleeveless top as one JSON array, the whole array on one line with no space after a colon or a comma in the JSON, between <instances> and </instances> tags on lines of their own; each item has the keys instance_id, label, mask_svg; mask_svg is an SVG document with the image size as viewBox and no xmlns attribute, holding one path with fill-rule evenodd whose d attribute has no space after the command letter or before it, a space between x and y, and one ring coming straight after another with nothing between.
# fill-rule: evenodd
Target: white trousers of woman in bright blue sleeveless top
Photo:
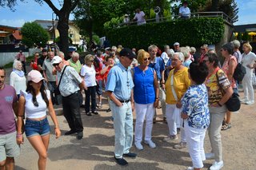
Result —
<instances>
[{"instance_id":1,"label":"white trousers of woman in bright blue sleeveless top","mask_svg":"<svg viewBox=\"0 0 256 170\"><path fill-rule=\"evenodd\" d=\"M136 122L135 122L135 143L142 142L143 123L146 118L145 138L144 140L151 140L153 117L155 113L154 103L138 104L135 103Z\"/></svg>"}]
</instances>

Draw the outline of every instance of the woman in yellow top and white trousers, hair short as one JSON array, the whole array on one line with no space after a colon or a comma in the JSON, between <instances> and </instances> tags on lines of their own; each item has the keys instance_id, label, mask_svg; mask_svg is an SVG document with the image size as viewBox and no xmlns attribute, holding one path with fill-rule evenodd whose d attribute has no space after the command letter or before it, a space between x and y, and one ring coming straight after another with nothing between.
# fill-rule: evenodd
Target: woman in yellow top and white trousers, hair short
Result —
<instances>
[{"instance_id":1,"label":"woman in yellow top and white trousers, hair short","mask_svg":"<svg viewBox=\"0 0 256 170\"><path fill-rule=\"evenodd\" d=\"M181 99L186 90L190 86L190 79L188 74L188 68L183 64L183 53L174 53L171 58L171 65L174 67L169 73L169 77L166 81L166 120L169 128L169 136L164 138L164 141L177 140L177 128L180 128L181 124ZM181 130L181 142L175 144L174 148L186 147L186 136Z\"/></svg>"}]
</instances>

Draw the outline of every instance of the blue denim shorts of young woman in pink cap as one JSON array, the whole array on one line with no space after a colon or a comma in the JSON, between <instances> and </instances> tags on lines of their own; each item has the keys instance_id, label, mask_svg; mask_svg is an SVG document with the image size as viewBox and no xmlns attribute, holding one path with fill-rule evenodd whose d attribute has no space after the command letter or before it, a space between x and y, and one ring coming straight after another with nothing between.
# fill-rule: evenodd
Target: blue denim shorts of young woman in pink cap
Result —
<instances>
[{"instance_id":1,"label":"blue denim shorts of young woman in pink cap","mask_svg":"<svg viewBox=\"0 0 256 170\"><path fill-rule=\"evenodd\" d=\"M47 134L50 134L50 125L47 117L42 121L33 121L30 119L26 119L25 133L26 137L31 137L35 135L45 136Z\"/></svg>"}]
</instances>

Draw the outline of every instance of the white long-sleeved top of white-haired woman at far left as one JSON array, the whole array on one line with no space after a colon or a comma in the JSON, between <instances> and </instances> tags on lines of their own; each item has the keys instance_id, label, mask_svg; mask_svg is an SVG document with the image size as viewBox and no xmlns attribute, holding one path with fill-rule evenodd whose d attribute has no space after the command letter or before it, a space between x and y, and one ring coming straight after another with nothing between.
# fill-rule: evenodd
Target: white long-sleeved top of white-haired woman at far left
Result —
<instances>
[{"instance_id":1,"label":"white long-sleeved top of white-haired woman at far left","mask_svg":"<svg viewBox=\"0 0 256 170\"><path fill-rule=\"evenodd\" d=\"M16 94L19 94L21 90L26 90L26 77L20 77L14 71L10 73L10 85L16 90Z\"/></svg>"}]
</instances>

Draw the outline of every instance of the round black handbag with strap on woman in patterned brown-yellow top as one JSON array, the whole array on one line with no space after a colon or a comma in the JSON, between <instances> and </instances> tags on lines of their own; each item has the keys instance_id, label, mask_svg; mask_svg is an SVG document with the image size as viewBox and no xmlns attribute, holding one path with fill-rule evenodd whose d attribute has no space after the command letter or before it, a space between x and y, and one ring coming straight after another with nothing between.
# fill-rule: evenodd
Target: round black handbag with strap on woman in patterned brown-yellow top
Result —
<instances>
[{"instance_id":1,"label":"round black handbag with strap on woman in patterned brown-yellow top","mask_svg":"<svg viewBox=\"0 0 256 170\"><path fill-rule=\"evenodd\" d=\"M218 71L216 72L216 77L217 77L217 81L218 81ZM220 86L220 88L222 88L221 85L219 85L219 82L218 82L218 86ZM225 94L225 91L223 89L222 89L222 94ZM230 112L237 112L241 107L241 102L239 100L239 94L233 93L232 96L230 97L230 99L228 101L226 101L225 105L226 105L226 109L228 109Z\"/></svg>"}]
</instances>

